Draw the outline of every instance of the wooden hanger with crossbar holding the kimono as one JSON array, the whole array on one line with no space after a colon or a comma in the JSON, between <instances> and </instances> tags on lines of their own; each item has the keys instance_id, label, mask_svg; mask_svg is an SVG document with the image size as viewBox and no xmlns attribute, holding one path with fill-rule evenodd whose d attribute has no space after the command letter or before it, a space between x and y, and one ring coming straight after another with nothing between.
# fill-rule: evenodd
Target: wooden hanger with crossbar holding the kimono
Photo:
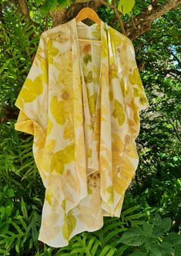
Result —
<instances>
[{"instance_id":1,"label":"wooden hanger with crossbar holding the kimono","mask_svg":"<svg viewBox=\"0 0 181 256\"><path fill-rule=\"evenodd\" d=\"M82 20L84 19L91 19L93 22L96 22L97 24L101 25L101 19L99 18L99 15L97 15L97 13L89 7L81 9L78 15L75 16L75 22L82 22ZM100 42L100 40L96 39L79 38L79 40Z\"/></svg>"}]
</instances>

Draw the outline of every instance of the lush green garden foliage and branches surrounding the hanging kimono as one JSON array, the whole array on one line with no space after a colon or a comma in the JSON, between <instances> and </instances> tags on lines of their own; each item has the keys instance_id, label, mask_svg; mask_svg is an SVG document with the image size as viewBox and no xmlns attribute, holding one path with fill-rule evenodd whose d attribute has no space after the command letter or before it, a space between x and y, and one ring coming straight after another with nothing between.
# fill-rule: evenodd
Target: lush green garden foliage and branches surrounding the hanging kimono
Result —
<instances>
[{"instance_id":1,"label":"lush green garden foliage and branches surrounding the hanging kimono","mask_svg":"<svg viewBox=\"0 0 181 256\"><path fill-rule=\"evenodd\" d=\"M0 255L180 256L181 1L87 2L0 1ZM121 217L105 217L101 230L54 248L38 241L45 188L32 135L15 131L14 104L41 33L87 5L132 39L150 108L140 112L139 166Z\"/></svg>"}]
</instances>

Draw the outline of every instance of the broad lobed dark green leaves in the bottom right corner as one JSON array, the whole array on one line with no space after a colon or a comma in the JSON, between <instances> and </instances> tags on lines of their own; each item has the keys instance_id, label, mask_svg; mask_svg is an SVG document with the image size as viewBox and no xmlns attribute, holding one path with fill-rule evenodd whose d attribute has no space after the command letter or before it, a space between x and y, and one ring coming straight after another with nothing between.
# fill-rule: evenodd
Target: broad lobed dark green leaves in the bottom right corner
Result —
<instances>
[{"instance_id":1,"label":"broad lobed dark green leaves in the bottom right corner","mask_svg":"<svg viewBox=\"0 0 181 256\"><path fill-rule=\"evenodd\" d=\"M123 244L139 247L130 255L171 255L181 249L181 237L176 233L168 233L171 219L161 219L156 213L151 223L144 222L141 227L131 227L122 235Z\"/></svg>"}]
</instances>

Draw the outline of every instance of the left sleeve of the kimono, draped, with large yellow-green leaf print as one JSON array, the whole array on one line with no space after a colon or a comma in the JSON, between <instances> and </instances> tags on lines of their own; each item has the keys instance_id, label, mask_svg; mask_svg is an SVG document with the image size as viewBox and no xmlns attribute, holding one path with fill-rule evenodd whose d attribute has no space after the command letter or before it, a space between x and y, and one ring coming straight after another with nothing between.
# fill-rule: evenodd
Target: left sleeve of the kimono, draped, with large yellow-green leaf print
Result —
<instances>
[{"instance_id":1,"label":"left sleeve of the kimono, draped, with large yellow-green leaf print","mask_svg":"<svg viewBox=\"0 0 181 256\"><path fill-rule=\"evenodd\" d=\"M46 128L48 108L48 65L45 32L39 40L32 67L15 101L20 110L15 130L35 135L35 129Z\"/></svg>"}]
</instances>

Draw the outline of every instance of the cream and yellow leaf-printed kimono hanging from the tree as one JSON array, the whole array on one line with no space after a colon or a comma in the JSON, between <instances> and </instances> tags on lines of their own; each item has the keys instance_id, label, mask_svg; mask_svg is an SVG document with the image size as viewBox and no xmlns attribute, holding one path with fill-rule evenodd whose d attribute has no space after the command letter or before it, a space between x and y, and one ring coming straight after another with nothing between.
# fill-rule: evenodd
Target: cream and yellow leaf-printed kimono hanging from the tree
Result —
<instances>
[{"instance_id":1,"label":"cream and yellow leaf-printed kimono hanging from the tree","mask_svg":"<svg viewBox=\"0 0 181 256\"><path fill-rule=\"evenodd\" d=\"M42 32L15 106L45 186L38 240L63 247L119 217L139 163L139 111L149 108L131 40L102 21Z\"/></svg>"}]
</instances>

